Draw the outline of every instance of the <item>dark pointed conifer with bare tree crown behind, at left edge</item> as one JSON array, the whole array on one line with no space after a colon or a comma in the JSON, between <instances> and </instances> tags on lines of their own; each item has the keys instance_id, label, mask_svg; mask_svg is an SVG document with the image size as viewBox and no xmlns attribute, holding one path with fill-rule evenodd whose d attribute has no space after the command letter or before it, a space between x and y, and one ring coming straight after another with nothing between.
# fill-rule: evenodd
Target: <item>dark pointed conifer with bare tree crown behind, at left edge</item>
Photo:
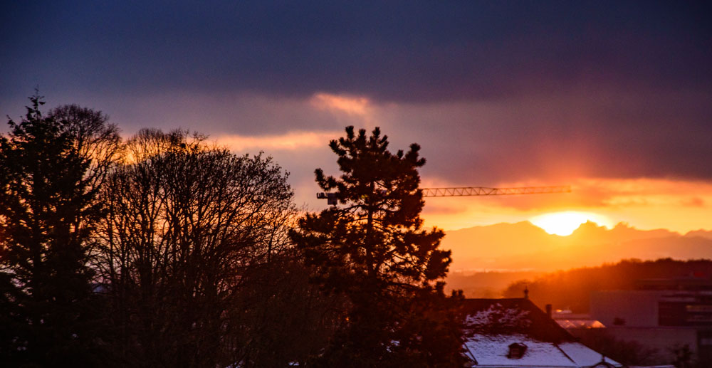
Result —
<instances>
[{"instance_id":1,"label":"dark pointed conifer with bare tree crown behind, at left edge","mask_svg":"<svg viewBox=\"0 0 712 368\"><path fill-rule=\"evenodd\" d=\"M98 190L120 140L100 112L43 116L41 97L30 100L0 137L0 360L95 365L103 325L88 264L104 215Z\"/></svg>"}]
</instances>

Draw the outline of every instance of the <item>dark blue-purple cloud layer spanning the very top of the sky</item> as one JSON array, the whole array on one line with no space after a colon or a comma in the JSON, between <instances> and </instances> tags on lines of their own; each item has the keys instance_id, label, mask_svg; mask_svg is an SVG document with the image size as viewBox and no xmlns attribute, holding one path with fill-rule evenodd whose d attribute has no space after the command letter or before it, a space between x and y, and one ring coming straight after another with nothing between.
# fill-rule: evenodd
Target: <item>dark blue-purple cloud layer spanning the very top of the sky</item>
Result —
<instances>
[{"instance_id":1,"label":"dark blue-purple cloud layer spanning the very top of the sky","mask_svg":"<svg viewBox=\"0 0 712 368\"><path fill-rule=\"evenodd\" d=\"M580 83L708 90L712 79L703 3L25 3L1 19L3 93L36 81L433 101Z\"/></svg>"}]
</instances>

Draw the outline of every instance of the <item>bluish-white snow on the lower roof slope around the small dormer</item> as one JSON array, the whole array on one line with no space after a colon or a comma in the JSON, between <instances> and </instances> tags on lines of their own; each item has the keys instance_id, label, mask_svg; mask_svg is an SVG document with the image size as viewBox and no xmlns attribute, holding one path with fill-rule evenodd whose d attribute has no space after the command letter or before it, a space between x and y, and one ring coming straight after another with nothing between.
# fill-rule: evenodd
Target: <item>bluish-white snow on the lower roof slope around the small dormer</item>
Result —
<instances>
[{"instance_id":1,"label":"bluish-white snow on the lower roof slope around the small dormer","mask_svg":"<svg viewBox=\"0 0 712 368\"><path fill-rule=\"evenodd\" d=\"M527 349L521 358L508 358L509 345L524 344ZM542 342L525 335L474 335L465 342L474 367L590 367L601 362L601 354L578 342ZM606 358L616 367L621 364Z\"/></svg>"}]
</instances>

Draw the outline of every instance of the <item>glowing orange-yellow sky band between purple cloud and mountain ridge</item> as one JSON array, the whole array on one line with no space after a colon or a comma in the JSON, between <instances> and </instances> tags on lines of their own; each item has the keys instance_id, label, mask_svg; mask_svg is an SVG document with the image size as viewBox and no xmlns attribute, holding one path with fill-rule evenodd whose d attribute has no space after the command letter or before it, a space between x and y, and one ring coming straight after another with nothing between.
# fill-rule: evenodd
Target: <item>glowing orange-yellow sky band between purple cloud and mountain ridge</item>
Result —
<instances>
[{"instance_id":1,"label":"glowing orange-yellow sky band between purple cloud and mountain ridge","mask_svg":"<svg viewBox=\"0 0 712 368\"><path fill-rule=\"evenodd\" d=\"M571 184L572 193L427 198L423 216L427 225L446 230L513 223L559 211L591 212L606 216L612 224L625 222L640 229L666 228L679 233L712 229L712 183L579 178L552 184Z\"/></svg>"}]
</instances>

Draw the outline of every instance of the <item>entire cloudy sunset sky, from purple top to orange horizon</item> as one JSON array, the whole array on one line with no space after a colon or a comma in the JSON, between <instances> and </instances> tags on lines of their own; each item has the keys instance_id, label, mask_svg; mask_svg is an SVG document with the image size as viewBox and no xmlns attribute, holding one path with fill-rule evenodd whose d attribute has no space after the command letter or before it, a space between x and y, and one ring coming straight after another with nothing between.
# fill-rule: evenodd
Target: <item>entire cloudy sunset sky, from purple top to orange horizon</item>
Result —
<instances>
[{"instance_id":1,"label":"entire cloudy sunset sky, from purple top to orange horizon","mask_svg":"<svg viewBox=\"0 0 712 368\"><path fill-rule=\"evenodd\" d=\"M588 213L712 229L712 11L703 1L11 1L0 114L49 106L273 156L326 206L328 141L417 142L422 186L571 185L426 199L447 230Z\"/></svg>"}]
</instances>

